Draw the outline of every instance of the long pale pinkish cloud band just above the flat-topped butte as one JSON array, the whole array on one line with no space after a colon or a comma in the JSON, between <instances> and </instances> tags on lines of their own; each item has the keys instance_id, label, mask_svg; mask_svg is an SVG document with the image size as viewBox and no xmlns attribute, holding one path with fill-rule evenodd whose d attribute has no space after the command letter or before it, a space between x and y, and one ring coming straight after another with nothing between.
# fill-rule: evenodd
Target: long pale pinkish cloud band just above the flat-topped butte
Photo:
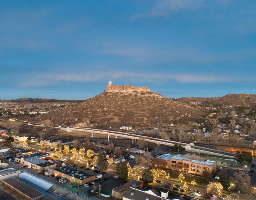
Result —
<instances>
[{"instance_id":1,"label":"long pale pinkish cloud band just above the flat-topped butte","mask_svg":"<svg viewBox=\"0 0 256 200\"><path fill-rule=\"evenodd\" d=\"M26 87L38 87L47 85L59 85L67 82L99 82L104 80L118 80L123 79L143 82L155 82L155 81L178 81L179 83L219 83L219 82L241 82L245 79L238 77L232 77L232 79L226 79L224 76L215 76L209 74L166 74L166 73L134 73L134 72L86 72L86 73L72 73L72 74L41 74L32 77L30 80L22 81L20 86ZM252 77L247 77L246 81L255 83L256 80ZM106 82L107 83L107 82Z\"/></svg>"}]
</instances>

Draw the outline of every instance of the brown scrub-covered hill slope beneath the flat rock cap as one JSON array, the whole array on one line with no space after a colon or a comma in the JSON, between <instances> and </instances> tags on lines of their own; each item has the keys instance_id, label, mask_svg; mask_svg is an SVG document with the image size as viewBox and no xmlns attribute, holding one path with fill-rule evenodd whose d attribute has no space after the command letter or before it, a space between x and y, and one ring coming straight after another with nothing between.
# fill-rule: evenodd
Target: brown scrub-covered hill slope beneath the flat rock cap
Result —
<instances>
[{"instance_id":1,"label":"brown scrub-covered hill slope beneath the flat rock cap","mask_svg":"<svg viewBox=\"0 0 256 200\"><path fill-rule=\"evenodd\" d=\"M70 126L152 128L158 123L170 124L174 119L195 120L204 111L204 107L175 102L157 92L113 91L33 119L34 122L51 119L52 124L70 123Z\"/></svg>"}]
</instances>

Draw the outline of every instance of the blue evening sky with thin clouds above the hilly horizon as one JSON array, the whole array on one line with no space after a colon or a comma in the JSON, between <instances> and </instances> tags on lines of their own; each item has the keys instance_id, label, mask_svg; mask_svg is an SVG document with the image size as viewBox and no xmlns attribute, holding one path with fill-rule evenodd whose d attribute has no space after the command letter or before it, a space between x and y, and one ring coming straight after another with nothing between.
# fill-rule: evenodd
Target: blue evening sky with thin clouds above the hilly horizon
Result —
<instances>
[{"instance_id":1,"label":"blue evening sky with thin clouds above the hilly horizon","mask_svg":"<svg viewBox=\"0 0 256 200\"><path fill-rule=\"evenodd\" d=\"M256 1L0 1L0 99L255 94Z\"/></svg>"}]
</instances>

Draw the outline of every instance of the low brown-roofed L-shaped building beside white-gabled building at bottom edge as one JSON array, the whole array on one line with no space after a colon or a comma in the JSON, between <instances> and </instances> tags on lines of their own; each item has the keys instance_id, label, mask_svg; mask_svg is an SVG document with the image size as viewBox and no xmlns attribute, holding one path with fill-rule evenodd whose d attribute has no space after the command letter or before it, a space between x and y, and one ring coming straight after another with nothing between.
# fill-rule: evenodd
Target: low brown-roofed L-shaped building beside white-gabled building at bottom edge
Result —
<instances>
[{"instance_id":1,"label":"low brown-roofed L-shaped building beside white-gabled building at bottom edge","mask_svg":"<svg viewBox=\"0 0 256 200\"><path fill-rule=\"evenodd\" d=\"M122 198L123 195L131 188L131 187L143 187L143 183L140 181L137 181L135 179L132 179L128 183L125 183L124 185L119 186L118 188L112 189L112 196L116 198Z\"/></svg>"}]
</instances>

